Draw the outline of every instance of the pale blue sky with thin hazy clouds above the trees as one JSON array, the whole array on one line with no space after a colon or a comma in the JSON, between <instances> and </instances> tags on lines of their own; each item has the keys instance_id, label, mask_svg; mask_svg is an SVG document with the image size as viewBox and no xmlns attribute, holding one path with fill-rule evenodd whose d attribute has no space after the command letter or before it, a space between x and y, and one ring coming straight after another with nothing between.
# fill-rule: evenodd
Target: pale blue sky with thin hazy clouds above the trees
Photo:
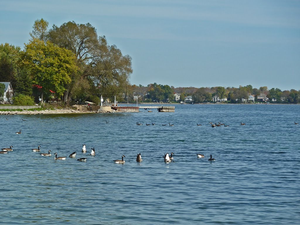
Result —
<instances>
[{"instance_id":1,"label":"pale blue sky with thin hazy clouds above the trees","mask_svg":"<svg viewBox=\"0 0 300 225\"><path fill-rule=\"evenodd\" d=\"M300 89L298 0L1 0L0 43L23 48L41 18L91 23L132 57L131 84Z\"/></svg>"}]
</instances>

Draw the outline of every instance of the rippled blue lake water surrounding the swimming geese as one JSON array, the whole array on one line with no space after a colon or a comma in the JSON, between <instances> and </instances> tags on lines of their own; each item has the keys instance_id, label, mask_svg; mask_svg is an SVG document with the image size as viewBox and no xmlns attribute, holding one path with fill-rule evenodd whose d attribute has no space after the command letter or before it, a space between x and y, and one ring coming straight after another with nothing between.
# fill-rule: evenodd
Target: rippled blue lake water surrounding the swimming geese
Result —
<instances>
[{"instance_id":1,"label":"rippled blue lake water surrounding the swimming geese","mask_svg":"<svg viewBox=\"0 0 300 225\"><path fill-rule=\"evenodd\" d=\"M300 224L300 105L140 111L0 116L0 147L14 146L0 155L0 223Z\"/></svg>"}]
</instances>

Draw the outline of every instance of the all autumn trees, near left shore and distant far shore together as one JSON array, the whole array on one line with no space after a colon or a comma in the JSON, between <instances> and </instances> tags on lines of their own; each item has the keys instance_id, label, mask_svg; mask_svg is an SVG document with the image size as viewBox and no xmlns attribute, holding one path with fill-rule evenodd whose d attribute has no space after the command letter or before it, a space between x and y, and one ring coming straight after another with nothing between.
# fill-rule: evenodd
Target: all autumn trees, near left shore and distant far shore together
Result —
<instances>
[{"instance_id":1,"label":"all autumn trees, near left shore and distant far shore together","mask_svg":"<svg viewBox=\"0 0 300 225\"><path fill-rule=\"evenodd\" d=\"M265 95L277 103L300 103L299 90L252 85L236 87L173 87L152 83L131 85L133 72L131 57L123 55L116 45L108 44L105 36L98 36L91 24L74 21L55 24L38 19L29 33L31 39L21 50L9 43L0 44L0 82L12 85L14 104L35 104L56 100L66 104L77 101L100 102L100 96L119 102L171 102L177 93L191 103L211 102L214 96L223 102L241 103L253 95ZM7 95L0 83L0 101ZM71 103L72 104L72 103Z\"/></svg>"}]
</instances>

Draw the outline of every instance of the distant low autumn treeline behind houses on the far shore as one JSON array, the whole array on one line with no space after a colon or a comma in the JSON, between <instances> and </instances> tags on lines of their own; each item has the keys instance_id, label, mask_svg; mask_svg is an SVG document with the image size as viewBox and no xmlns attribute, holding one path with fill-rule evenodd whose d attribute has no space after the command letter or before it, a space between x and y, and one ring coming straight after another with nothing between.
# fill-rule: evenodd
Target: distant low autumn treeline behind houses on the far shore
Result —
<instances>
[{"instance_id":1,"label":"distant low autumn treeline behind houses on the far shore","mask_svg":"<svg viewBox=\"0 0 300 225\"><path fill-rule=\"evenodd\" d=\"M253 88L252 85L236 87L179 87L175 88L169 85L161 85L157 83L149 84L146 87L142 85L131 86L132 95L137 96L139 101L148 102L170 102L175 101L174 93L180 96L178 101L184 101L187 96L192 97L190 103L206 103L211 102L212 98L217 96L219 99L226 99L226 103L249 103L249 95L254 97L254 101L260 101L258 96L265 97L263 101L276 103L300 103L300 90L284 90L279 88L271 88L263 86ZM266 100L268 99L268 100ZM253 102L253 101L251 101Z\"/></svg>"}]
</instances>

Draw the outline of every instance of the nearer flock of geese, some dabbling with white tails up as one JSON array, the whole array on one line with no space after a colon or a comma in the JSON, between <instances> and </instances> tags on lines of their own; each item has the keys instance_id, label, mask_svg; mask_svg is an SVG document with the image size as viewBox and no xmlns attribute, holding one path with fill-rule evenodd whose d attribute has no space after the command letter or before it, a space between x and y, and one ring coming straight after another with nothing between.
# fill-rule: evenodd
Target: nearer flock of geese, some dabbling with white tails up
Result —
<instances>
[{"instance_id":1,"label":"nearer flock of geese, some dabbling with white tails up","mask_svg":"<svg viewBox=\"0 0 300 225\"><path fill-rule=\"evenodd\" d=\"M41 146L38 146L37 149L31 149L32 152L41 152L41 149L40 149ZM7 154L8 152L12 152L13 151L13 146L11 145L9 148L3 148L1 149L0 151L0 154ZM48 153L40 153L41 156L51 156L51 150L48 150ZM85 145L82 145L82 151L83 153L86 153L86 148L85 148ZM69 158L75 158L76 157L76 152L73 152L69 155ZM57 157L57 153L55 152L54 153L55 155L55 160L65 160L67 158L67 156L61 156L61 157ZM91 153L88 154L88 155L91 155L91 156L95 156L95 148L91 148ZM164 162L165 163L171 163L171 162L174 162L173 157L174 152L171 152L171 154L169 155L169 153L165 154L163 157L164 157ZM125 164L125 155L122 155L122 160L120 159L117 159L117 160L113 160L116 164ZM202 154L197 154L197 158L204 158L204 155ZM78 158L77 161L81 161L81 162L86 162L87 158ZM141 153L137 154L137 162L142 162L143 159L142 159L142 156L141 156ZM215 161L214 158L212 158L212 156L210 155L210 158L208 159L208 161Z\"/></svg>"}]
</instances>

